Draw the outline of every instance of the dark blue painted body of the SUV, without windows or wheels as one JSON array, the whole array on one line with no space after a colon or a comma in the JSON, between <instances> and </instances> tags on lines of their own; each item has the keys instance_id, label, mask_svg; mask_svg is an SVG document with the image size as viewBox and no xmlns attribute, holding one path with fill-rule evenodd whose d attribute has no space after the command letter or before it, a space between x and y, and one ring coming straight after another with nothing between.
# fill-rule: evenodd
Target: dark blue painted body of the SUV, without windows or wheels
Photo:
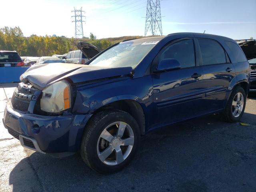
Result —
<instances>
[{"instance_id":1,"label":"dark blue painted body of the SUV, without windows or wheels","mask_svg":"<svg viewBox=\"0 0 256 192\"><path fill-rule=\"evenodd\" d=\"M151 68L151 63L158 52L166 44L181 38L194 40L196 66L154 73L155 66ZM202 66L196 38L218 41L226 50L231 63ZM145 132L149 132L175 122L223 110L233 87L240 82L249 84L248 62L232 62L234 55L224 43L225 40L235 42L234 40L193 33L171 34L151 40L159 42L133 71L130 67L97 68L64 64L55 74L48 76L44 75L42 70L49 70L50 65L25 73L22 78L27 78L40 89L67 79L73 85L76 95L71 114L35 115L33 109L36 100L30 103L26 114L12 110L10 104L7 104L5 124L35 138L44 152L75 152L80 148L82 133L89 118L101 107L112 102L138 102L144 112ZM100 54L102 53L98 55ZM227 68L232 70L228 72ZM40 90L36 93L38 97L40 93Z\"/></svg>"}]
</instances>

